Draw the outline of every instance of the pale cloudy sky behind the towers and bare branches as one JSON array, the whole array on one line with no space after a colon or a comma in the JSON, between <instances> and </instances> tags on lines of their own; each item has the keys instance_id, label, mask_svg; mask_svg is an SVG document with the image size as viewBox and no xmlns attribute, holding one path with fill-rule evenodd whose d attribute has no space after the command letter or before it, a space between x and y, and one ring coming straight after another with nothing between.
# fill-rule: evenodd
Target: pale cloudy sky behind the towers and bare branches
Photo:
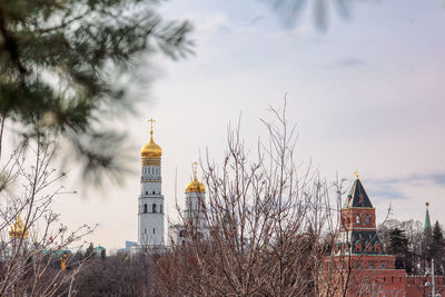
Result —
<instances>
[{"instance_id":1,"label":"pale cloudy sky behind the towers and bare branches","mask_svg":"<svg viewBox=\"0 0 445 297\"><path fill-rule=\"evenodd\" d=\"M166 19L194 27L192 56L178 61L150 57L140 75L138 115L113 119L129 136L134 170L123 186L61 195L53 207L69 228L98 227L87 240L109 249L137 239L139 149L155 118L161 146L166 221L175 219L177 197L191 178L191 164L221 160L229 123L240 118L241 135L255 148L265 137L261 118L287 98L296 125L298 161L333 181L358 170L377 208L377 222L392 205L392 218L445 222L445 3L439 0L348 1L349 16L328 6L326 29L308 4L294 26L270 1L172 0L159 7ZM312 1L309 1L312 2ZM155 69L155 70L152 70ZM122 180L123 181L123 180ZM166 222L167 228L167 222Z\"/></svg>"}]
</instances>

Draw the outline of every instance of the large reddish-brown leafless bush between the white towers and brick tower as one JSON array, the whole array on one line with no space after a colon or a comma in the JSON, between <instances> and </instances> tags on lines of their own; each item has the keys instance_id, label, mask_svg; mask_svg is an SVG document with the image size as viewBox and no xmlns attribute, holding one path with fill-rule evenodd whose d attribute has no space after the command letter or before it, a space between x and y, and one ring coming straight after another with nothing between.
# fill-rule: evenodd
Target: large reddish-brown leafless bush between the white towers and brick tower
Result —
<instances>
[{"instance_id":1,"label":"large reddish-brown leafless bush between the white towers and brick tower","mask_svg":"<svg viewBox=\"0 0 445 297\"><path fill-rule=\"evenodd\" d=\"M202 168L205 227L182 221L182 244L157 259L159 287L171 296L318 296L326 234L335 231L327 184L295 158L285 108L264 121L255 155L239 125L228 129L221 165ZM335 212L334 212L335 214Z\"/></svg>"}]
</instances>

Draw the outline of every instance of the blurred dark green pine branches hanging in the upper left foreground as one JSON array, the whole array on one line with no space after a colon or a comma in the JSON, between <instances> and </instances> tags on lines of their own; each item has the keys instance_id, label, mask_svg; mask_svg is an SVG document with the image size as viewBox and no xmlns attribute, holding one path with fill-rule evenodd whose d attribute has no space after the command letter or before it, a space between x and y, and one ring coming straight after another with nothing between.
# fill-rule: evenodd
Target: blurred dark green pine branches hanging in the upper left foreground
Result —
<instances>
[{"instance_id":1,"label":"blurred dark green pine branches hanging in the upper left foreground","mask_svg":"<svg viewBox=\"0 0 445 297\"><path fill-rule=\"evenodd\" d=\"M164 21L158 2L0 1L0 152L8 118L26 138L61 136L86 172L118 174L122 136L103 121L134 109L122 78L145 52L176 59L190 51L190 24Z\"/></svg>"}]
</instances>

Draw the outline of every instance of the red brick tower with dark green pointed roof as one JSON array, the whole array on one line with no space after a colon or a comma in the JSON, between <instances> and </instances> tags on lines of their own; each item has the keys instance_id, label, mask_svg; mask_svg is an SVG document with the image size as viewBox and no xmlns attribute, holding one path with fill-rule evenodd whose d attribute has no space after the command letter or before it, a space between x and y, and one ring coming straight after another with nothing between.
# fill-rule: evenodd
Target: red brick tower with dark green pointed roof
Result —
<instances>
[{"instance_id":1,"label":"red brick tower with dark green pointed roof","mask_svg":"<svg viewBox=\"0 0 445 297\"><path fill-rule=\"evenodd\" d=\"M405 296L406 271L395 269L376 232L375 208L357 178L340 211L333 256L325 259L327 291L334 296Z\"/></svg>"}]
</instances>

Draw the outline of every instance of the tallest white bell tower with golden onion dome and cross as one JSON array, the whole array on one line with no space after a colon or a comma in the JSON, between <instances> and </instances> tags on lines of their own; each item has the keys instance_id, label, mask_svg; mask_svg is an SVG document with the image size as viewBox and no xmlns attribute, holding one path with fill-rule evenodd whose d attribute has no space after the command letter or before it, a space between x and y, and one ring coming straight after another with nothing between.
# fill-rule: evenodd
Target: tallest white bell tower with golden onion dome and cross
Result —
<instances>
[{"instance_id":1,"label":"tallest white bell tower with golden onion dome and cross","mask_svg":"<svg viewBox=\"0 0 445 297\"><path fill-rule=\"evenodd\" d=\"M138 245L164 246L164 195L161 190L162 149L155 143L152 125L150 141L142 147L140 156L142 170L138 204Z\"/></svg>"}]
</instances>

